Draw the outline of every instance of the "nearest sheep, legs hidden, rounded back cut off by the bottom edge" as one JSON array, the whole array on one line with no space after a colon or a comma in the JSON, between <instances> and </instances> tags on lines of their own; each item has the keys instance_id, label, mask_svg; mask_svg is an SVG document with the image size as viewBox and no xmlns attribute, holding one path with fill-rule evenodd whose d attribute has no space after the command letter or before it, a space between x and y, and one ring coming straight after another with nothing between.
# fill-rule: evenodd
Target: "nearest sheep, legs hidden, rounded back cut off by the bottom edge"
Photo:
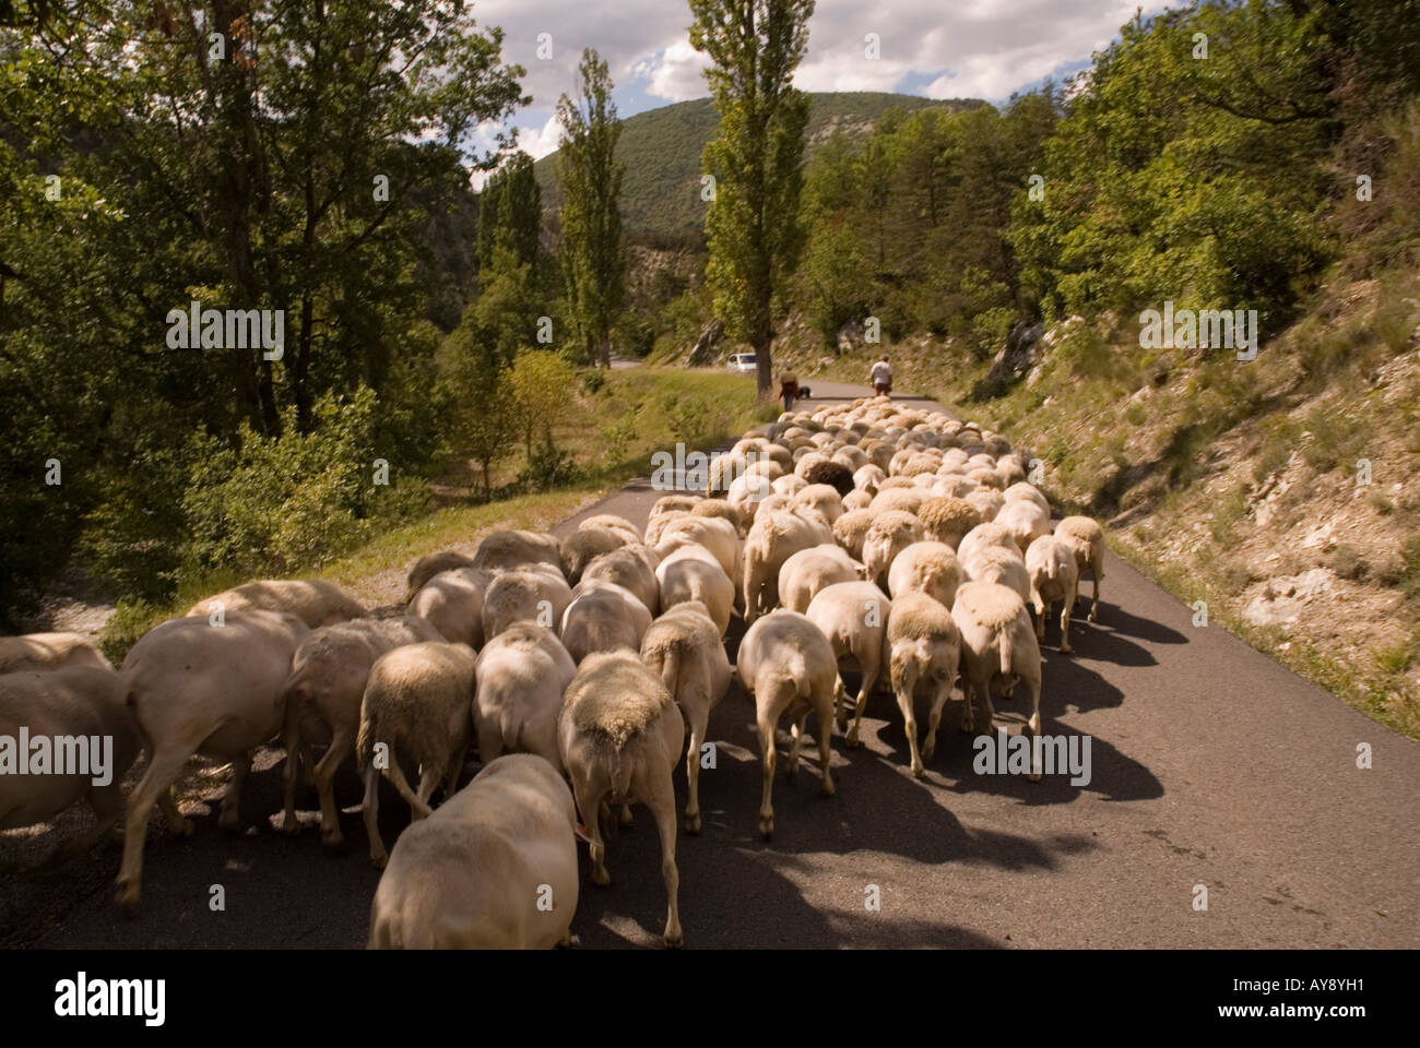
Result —
<instances>
[{"instance_id":1,"label":"nearest sheep, legs hidden, rounded back cut off by the bottom edge","mask_svg":"<svg viewBox=\"0 0 1420 1048\"><path fill-rule=\"evenodd\" d=\"M572 941L577 809L541 757L484 765L409 826L369 910L372 950L545 950Z\"/></svg>"}]
</instances>

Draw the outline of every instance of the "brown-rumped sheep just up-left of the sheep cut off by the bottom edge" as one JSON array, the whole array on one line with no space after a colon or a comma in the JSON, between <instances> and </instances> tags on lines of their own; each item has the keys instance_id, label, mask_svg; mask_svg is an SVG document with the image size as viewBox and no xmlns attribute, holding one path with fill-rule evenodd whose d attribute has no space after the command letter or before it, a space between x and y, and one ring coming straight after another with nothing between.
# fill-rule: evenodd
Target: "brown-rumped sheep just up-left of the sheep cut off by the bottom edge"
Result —
<instances>
[{"instance_id":1,"label":"brown-rumped sheep just up-left of the sheep cut off by the bottom edge","mask_svg":"<svg viewBox=\"0 0 1420 1048\"><path fill-rule=\"evenodd\" d=\"M440 781L453 794L473 727L473 666L467 645L420 642L385 652L369 670L355 757L365 777L369 859L381 869L389 859L379 836L381 773L415 819L432 814L429 797ZM399 767L400 757L419 768L417 792Z\"/></svg>"}]
</instances>

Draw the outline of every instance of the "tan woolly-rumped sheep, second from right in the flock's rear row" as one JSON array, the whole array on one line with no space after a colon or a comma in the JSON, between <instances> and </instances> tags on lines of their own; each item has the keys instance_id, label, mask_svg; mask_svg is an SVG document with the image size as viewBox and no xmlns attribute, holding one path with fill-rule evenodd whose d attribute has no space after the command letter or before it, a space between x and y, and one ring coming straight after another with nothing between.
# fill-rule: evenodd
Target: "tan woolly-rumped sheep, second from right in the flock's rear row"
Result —
<instances>
[{"instance_id":1,"label":"tan woolly-rumped sheep, second from right in the flock's rear row","mask_svg":"<svg viewBox=\"0 0 1420 1048\"><path fill-rule=\"evenodd\" d=\"M932 760L937 747L941 710L951 697L960 659L961 635L941 604L922 592L893 596L888 616L888 665L897 709L902 710L914 778L923 777L923 761ZM932 713L920 753L913 709L917 692L929 692L932 696Z\"/></svg>"}]
</instances>

